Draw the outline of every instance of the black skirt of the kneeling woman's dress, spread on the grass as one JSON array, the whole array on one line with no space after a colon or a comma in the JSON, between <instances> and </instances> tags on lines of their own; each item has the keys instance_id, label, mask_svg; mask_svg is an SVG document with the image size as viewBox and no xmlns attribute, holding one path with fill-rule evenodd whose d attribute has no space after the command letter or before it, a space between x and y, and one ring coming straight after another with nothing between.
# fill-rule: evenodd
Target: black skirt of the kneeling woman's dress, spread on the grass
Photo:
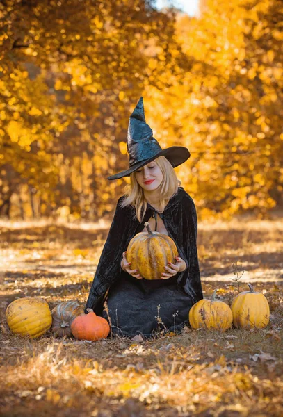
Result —
<instances>
[{"instance_id":1,"label":"black skirt of the kneeling woman's dress, spread on the grass","mask_svg":"<svg viewBox=\"0 0 283 417\"><path fill-rule=\"evenodd\" d=\"M177 288L177 275L153 281L123 275L111 287L107 300L113 334L143 334L147 338L181 330L188 323L193 304L190 295ZM107 320L108 314L103 311Z\"/></svg>"}]
</instances>

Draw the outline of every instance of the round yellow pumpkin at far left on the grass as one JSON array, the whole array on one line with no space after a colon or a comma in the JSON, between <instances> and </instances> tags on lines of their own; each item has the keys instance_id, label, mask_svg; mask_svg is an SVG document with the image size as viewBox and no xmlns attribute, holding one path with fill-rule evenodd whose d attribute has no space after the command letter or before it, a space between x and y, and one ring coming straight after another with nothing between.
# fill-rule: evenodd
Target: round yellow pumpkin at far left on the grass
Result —
<instances>
[{"instance_id":1,"label":"round yellow pumpkin at far left on the grass","mask_svg":"<svg viewBox=\"0 0 283 417\"><path fill-rule=\"evenodd\" d=\"M6 309L6 320L10 331L20 336L36 338L51 327L52 316L49 305L41 298L18 298Z\"/></svg>"}]
</instances>

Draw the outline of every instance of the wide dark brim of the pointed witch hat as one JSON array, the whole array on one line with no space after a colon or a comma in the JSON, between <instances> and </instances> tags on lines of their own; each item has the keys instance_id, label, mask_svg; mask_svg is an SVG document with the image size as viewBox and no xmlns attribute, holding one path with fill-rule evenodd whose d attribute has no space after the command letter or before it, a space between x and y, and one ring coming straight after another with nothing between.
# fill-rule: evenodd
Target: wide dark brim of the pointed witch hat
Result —
<instances>
[{"instance_id":1,"label":"wide dark brim of the pointed witch hat","mask_svg":"<svg viewBox=\"0 0 283 417\"><path fill-rule=\"evenodd\" d=\"M111 175L107 177L107 179L120 179L122 177L129 177L131 172L142 168L143 166L147 165L147 163L154 161L154 159L159 158L159 156L165 156L166 159L170 162L173 168L181 165L182 163L186 162L188 158L190 158L191 154L188 149L184 146L171 146L167 149L162 149L161 152L158 152L151 158L144 159L142 161L138 161L134 163L128 170L118 172L118 174Z\"/></svg>"}]
</instances>

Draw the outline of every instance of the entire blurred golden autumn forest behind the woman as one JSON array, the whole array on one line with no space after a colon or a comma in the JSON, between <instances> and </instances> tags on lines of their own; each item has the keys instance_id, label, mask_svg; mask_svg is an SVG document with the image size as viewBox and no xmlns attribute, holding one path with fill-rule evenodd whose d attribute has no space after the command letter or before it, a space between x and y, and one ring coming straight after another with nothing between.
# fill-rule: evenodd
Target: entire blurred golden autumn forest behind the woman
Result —
<instances>
[{"instance_id":1,"label":"entire blurred golden autumn forest behind the woman","mask_svg":"<svg viewBox=\"0 0 283 417\"><path fill-rule=\"evenodd\" d=\"M200 218L282 206L280 0L1 0L0 216L111 215L143 95Z\"/></svg>"}]
</instances>

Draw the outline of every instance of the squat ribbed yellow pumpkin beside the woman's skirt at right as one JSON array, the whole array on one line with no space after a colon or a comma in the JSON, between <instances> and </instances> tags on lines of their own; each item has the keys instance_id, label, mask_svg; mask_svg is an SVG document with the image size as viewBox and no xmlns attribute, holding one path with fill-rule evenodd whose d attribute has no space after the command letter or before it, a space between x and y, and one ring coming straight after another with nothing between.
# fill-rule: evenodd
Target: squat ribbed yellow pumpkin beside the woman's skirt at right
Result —
<instances>
[{"instance_id":1,"label":"squat ribbed yellow pumpkin beside the woman's skirt at right","mask_svg":"<svg viewBox=\"0 0 283 417\"><path fill-rule=\"evenodd\" d=\"M188 313L192 329L216 329L221 332L232 326L233 315L230 307L223 301L216 300L217 290L211 300L200 300Z\"/></svg>"}]
</instances>

